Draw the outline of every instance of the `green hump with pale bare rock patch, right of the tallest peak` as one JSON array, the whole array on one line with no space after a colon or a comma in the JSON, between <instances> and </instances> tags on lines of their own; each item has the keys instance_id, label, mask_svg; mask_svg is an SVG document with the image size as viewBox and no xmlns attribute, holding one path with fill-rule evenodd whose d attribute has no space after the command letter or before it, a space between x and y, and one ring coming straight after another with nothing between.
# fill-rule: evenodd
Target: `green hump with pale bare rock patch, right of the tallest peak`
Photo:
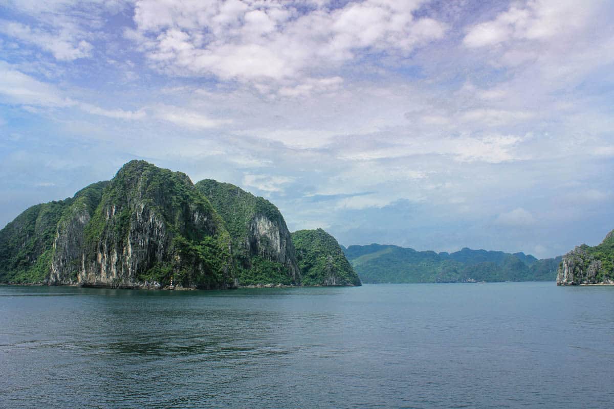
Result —
<instances>
[{"instance_id":1,"label":"green hump with pale bare rock patch, right of the tallest peak","mask_svg":"<svg viewBox=\"0 0 614 409\"><path fill-rule=\"evenodd\" d=\"M206 179L196 188L230 233L240 285L301 282L290 232L277 207L230 183Z\"/></svg>"}]
</instances>

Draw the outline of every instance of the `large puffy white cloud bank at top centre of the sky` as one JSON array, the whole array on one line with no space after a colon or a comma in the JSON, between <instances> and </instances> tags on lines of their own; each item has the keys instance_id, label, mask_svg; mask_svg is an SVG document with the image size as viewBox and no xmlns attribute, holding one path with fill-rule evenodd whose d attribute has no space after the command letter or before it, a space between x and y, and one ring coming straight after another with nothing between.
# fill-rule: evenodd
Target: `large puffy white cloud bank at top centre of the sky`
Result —
<instances>
[{"instance_id":1,"label":"large puffy white cloud bank at top centre of the sky","mask_svg":"<svg viewBox=\"0 0 614 409\"><path fill-rule=\"evenodd\" d=\"M292 96L318 91L317 81L327 81L306 71L338 67L361 50L407 53L444 36L443 23L414 19L419 2L397 3L366 0L332 12L324 5L305 12L284 1L141 0L134 12L138 31L126 36L160 69L213 74L260 90L273 80Z\"/></svg>"}]
</instances>

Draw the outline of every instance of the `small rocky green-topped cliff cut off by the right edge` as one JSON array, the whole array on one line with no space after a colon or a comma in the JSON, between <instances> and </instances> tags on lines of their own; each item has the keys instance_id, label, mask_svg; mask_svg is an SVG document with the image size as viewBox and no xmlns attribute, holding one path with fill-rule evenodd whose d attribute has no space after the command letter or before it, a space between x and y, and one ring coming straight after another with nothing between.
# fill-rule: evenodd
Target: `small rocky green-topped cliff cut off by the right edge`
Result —
<instances>
[{"instance_id":1,"label":"small rocky green-topped cliff cut off by the right edge","mask_svg":"<svg viewBox=\"0 0 614 409\"><path fill-rule=\"evenodd\" d=\"M614 231L595 247L577 246L563 256L557 285L614 284Z\"/></svg>"}]
</instances>

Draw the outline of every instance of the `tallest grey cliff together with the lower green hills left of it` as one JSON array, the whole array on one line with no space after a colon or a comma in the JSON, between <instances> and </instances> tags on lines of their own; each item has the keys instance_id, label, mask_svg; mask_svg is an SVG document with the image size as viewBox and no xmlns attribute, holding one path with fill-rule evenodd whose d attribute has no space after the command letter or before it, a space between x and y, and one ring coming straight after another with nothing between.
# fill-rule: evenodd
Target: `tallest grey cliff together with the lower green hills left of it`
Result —
<instances>
[{"instance_id":1,"label":"tallest grey cliff together with the lower green hills left of it","mask_svg":"<svg viewBox=\"0 0 614 409\"><path fill-rule=\"evenodd\" d=\"M0 281L134 288L235 286L230 235L187 175L125 164L0 231Z\"/></svg>"}]
</instances>

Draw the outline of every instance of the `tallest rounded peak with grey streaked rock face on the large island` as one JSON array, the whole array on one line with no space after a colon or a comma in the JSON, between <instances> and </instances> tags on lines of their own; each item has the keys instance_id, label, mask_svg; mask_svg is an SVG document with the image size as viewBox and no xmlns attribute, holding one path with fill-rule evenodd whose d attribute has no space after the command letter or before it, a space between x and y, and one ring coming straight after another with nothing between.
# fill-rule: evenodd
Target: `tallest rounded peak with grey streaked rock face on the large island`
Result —
<instances>
[{"instance_id":1,"label":"tallest rounded peak with grey streaked rock face on the large island","mask_svg":"<svg viewBox=\"0 0 614 409\"><path fill-rule=\"evenodd\" d=\"M80 264L81 285L130 288L152 281L166 285L171 279L191 288L234 285L230 236L211 204L181 172L128 162L104 189L90 220L74 210L66 228L74 226L84 226L83 237L65 246L59 240L64 231L60 225L56 253L76 254L72 245L82 243L78 261L61 263ZM64 267L52 275L71 277L72 271Z\"/></svg>"}]
</instances>

